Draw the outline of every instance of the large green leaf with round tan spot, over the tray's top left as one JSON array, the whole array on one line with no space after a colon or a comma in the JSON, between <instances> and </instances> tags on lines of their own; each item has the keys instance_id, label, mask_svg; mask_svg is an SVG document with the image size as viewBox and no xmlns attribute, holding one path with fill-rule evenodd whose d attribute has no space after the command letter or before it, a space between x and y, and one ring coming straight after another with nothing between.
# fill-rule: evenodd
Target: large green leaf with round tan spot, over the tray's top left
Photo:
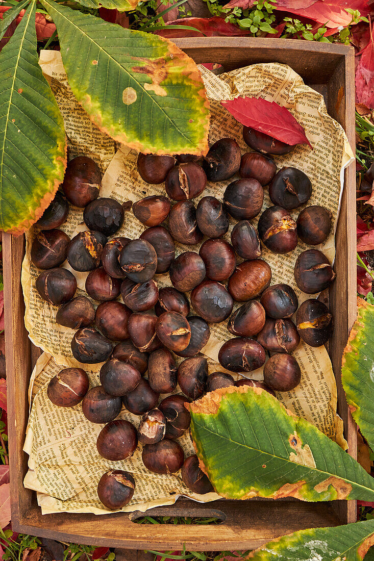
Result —
<instances>
[{"instance_id":1,"label":"large green leaf with round tan spot, over the tray's top left","mask_svg":"<svg viewBox=\"0 0 374 561\"><path fill-rule=\"evenodd\" d=\"M174 43L42 0L71 89L94 123L140 151L208 149L208 100L195 63Z\"/></svg>"}]
</instances>

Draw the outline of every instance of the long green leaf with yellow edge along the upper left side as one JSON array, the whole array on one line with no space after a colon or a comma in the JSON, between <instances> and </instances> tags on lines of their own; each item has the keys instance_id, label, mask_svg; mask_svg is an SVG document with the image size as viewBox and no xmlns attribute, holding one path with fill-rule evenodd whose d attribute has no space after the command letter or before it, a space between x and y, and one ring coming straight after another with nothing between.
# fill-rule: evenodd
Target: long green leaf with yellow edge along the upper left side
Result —
<instances>
[{"instance_id":1,"label":"long green leaf with yellow edge along the upper left side","mask_svg":"<svg viewBox=\"0 0 374 561\"><path fill-rule=\"evenodd\" d=\"M65 131L38 64L35 0L0 53L0 229L28 229L66 165Z\"/></svg>"}]
</instances>

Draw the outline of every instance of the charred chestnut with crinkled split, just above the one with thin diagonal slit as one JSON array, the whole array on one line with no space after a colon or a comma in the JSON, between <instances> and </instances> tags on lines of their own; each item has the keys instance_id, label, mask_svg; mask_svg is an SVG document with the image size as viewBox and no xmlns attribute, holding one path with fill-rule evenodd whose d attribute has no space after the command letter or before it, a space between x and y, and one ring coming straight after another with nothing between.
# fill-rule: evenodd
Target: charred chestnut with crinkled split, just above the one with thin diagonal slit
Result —
<instances>
[{"instance_id":1,"label":"charred chestnut with crinkled split, just above the one with thin diagonal slit","mask_svg":"<svg viewBox=\"0 0 374 561\"><path fill-rule=\"evenodd\" d=\"M84 327L75 332L71 341L71 350L77 361L96 364L110 357L112 343L96 329Z\"/></svg>"}]
</instances>

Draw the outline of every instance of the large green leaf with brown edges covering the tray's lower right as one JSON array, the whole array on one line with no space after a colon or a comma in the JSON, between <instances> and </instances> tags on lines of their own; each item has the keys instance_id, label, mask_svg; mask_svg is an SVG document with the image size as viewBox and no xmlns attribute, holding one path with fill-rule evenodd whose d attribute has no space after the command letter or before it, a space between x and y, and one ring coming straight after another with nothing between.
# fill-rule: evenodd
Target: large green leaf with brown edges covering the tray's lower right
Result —
<instances>
[{"instance_id":1,"label":"large green leaf with brown edges covering the tray's lower right","mask_svg":"<svg viewBox=\"0 0 374 561\"><path fill-rule=\"evenodd\" d=\"M358 462L264 390L218 389L189 410L200 465L228 499L374 499Z\"/></svg>"}]
</instances>

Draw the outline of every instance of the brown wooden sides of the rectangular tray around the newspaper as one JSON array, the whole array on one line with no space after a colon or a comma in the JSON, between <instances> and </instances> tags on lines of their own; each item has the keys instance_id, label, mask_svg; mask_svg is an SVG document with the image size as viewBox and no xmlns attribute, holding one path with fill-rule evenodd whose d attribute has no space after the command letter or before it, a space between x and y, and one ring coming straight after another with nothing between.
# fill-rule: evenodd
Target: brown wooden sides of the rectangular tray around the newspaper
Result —
<instances>
[{"instance_id":1,"label":"brown wooden sides of the rectangular tray around the newspaper","mask_svg":"<svg viewBox=\"0 0 374 561\"><path fill-rule=\"evenodd\" d=\"M175 43L196 62L220 62L226 70L257 62L291 66L325 97L327 111L344 127L354 149L354 50L342 45L285 39L198 38ZM345 171L345 188L336 232L337 279L330 290L335 316L331 361L337 379L338 412L344 420L349 453L356 457L356 427L340 383L340 363L348 332L355 320L355 168ZM295 499L218 500L208 504L179 499L173 507L153 509L152 515L211 517L216 525L139 525L139 513L48 514L42 516L36 494L24 489L28 456L22 452L28 421L28 384L39 355L24 326L20 283L24 238L3 234L4 312L8 383L8 422L11 467L12 528L63 541L116 546L124 549L229 550L252 549L264 542L309 527L336 526L356 519L355 501L304 503Z\"/></svg>"}]
</instances>

